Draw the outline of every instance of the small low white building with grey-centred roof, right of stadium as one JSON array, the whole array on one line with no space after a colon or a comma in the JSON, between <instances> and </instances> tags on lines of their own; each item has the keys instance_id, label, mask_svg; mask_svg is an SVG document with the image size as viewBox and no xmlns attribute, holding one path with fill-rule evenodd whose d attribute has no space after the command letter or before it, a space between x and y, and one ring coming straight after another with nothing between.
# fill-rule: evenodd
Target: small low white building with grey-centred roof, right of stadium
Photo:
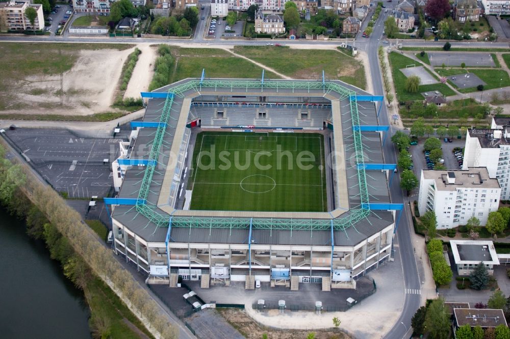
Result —
<instances>
[{"instance_id":1,"label":"small low white building with grey-centred roof, right of stadium","mask_svg":"<svg viewBox=\"0 0 510 339\"><path fill-rule=\"evenodd\" d=\"M485 265L492 275L494 265L499 265L492 241L450 240L450 245L458 275L471 275L479 263Z\"/></svg>"}]
</instances>

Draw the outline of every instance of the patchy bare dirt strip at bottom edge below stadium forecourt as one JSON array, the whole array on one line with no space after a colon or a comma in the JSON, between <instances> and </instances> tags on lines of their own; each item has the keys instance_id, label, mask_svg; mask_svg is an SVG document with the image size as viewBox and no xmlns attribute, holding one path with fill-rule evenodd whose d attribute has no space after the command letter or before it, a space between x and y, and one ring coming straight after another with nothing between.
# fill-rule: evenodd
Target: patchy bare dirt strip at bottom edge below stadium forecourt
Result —
<instances>
[{"instance_id":1,"label":"patchy bare dirt strip at bottom edge below stadium forecourt","mask_svg":"<svg viewBox=\"0 0 510 339\"><path fill-rule=\"evenodd\" d=\"M301 339L306 338L310 332L315 333L315 337L317 339L349 339L350 336L347 334L336 331L334 329L330 330L294 330L294 329L285 329L285 330L276 330L271 329L269 327L262 327L257 324L253 319L248 317L244 310L238 308L217 308L219 313L234 326L241 334L243 334L246 338L259 339L262 338L263 334L267 334L269 339ZM278 310L274 310L275 313Z\"/></svg>"}]
</instances>

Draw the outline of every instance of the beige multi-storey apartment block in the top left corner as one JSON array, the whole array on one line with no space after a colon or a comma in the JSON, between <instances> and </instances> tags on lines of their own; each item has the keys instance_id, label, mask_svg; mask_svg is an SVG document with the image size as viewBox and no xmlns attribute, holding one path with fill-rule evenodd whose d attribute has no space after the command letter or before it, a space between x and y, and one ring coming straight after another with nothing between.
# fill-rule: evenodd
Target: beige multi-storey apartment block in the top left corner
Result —
<instances>
[{"instance_id":1,"label":"beige multi-storey apartment block in the top left corner","mask_svg":"<svg viewBox=\"0 0 510 339\"><path fill-rule=\"evenodd\" d=\"M27 8L32 7L36 10L37 16L34 20L34 26L24 15ZM8 31L41 31L44 29L44 15L42 5L30 4L29 2L0 3L0 32Z\"/></svg>"}]
</instances>

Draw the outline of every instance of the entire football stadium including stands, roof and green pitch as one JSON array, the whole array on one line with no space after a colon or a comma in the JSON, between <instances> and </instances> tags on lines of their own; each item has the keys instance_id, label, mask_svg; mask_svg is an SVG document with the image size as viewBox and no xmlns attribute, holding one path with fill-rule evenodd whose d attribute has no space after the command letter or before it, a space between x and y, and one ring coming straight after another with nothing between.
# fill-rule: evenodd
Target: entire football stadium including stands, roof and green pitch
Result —
<instances>
[{"instance_id":1,"label":"entire football stadium including stands, roof and green pitch","mask_svg":"<svg viewBox=\"0 0 510 339\"><path fill-rule=\"evenodd\" d=\"M152 283L355 288L391 258L382 97L341 81L188 78L113 162L114 250Z\"/></svg>"}]
</instances>

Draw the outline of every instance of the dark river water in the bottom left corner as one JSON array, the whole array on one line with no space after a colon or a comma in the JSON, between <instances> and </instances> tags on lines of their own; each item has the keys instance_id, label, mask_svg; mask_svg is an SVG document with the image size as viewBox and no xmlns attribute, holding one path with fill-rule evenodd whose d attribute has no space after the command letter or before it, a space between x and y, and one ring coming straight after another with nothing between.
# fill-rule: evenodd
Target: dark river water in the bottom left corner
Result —
<instances>
[{"instance_id":1,"label":"dark river water in the bottom left corner","mask_svg":"<svg viewBox=\"0 0 510 339\"><path fill-rule=\"evenodd\" d=\"M82 291L49 258L42 240L0 207L0 336L90 338Z\"/></svg>"}]
</instances>

